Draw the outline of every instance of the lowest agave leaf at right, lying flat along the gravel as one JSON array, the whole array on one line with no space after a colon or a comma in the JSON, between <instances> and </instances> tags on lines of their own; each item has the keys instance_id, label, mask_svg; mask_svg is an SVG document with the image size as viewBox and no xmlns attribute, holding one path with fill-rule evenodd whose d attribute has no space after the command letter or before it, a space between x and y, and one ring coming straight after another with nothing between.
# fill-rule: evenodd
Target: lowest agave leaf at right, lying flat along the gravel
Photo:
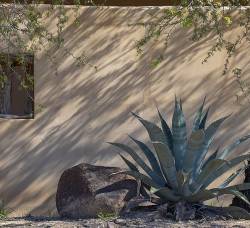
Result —
<instances>
[{"instance_id":1,"label":"lowest agave leaf at right, lying flat along the gravel","mask_svg":"<svg viewBox=\"0 0 250 228\"><path fill-rule=\"evenodd\" d=\"M209 207L213 209L213 207ZM215 208L215 210L219 210L218 212L222 212L222 214L225 214L229 217L232 217L234 219L250 219L250 213L248 213L245 209L241 207L235 207L235 206L230 206L230 207L220 207L220 208Z\"/></svg>"}]
</instances>

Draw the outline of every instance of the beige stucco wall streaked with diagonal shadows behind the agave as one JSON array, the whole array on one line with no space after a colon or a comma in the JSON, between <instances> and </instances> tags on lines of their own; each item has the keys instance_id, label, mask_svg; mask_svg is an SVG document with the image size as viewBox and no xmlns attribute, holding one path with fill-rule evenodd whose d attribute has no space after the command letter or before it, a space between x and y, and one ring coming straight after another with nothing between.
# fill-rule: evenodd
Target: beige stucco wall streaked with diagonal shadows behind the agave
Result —
<instances>
[{"instance_id":1,"label":"beige stucco wall streaked with diagonal shadows behind the agave","mask_svg":"<svg viewBox=\"0 0 250 228\"><path fill-rule=\"evenodd\" d=\"M221 76L225 53L201 64L209 39L189 43L190 31L178 30L156 69L150 61L160 46L153 46L142 58L136 55L135 40L143 29L128 24L143 19L149 11L82 8L80 26L69 25L65 31L65 46L76 54L84 50L98 72L88 66L76 67L60 50L55 53L55 74L56 64L45 53L37 54L35 101L43 110L34 120L0 120L0 196L14 209L13 214L54 214L58 179L75 164L123 165L117 150L105 142L128 142L127 133L147 141L129 112L158 122L157 104L170 119L174 94L183 98L189 121L205 95L213 105L210 120L233 112L218 134L223 145L250 132L250 110L236 102L239 90L232 75ZM53 29L51 18L48 27ZM246 56L239 53L233 62L249 75ZM246 149L242 146L238 153Z\"/></svg>"}]
</instances>

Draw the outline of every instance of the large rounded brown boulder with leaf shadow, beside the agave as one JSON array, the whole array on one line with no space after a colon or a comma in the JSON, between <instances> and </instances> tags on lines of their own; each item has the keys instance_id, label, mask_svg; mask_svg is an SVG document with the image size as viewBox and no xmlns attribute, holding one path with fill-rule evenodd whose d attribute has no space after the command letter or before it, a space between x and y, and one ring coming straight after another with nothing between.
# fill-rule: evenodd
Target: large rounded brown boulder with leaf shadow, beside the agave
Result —
<instances>
[{"instance_id":1,"label":"large rounded brown boulder with leaf shadow, beside the agave","mask_svg":"<svg viewBox=\"0 0 250 228\"><path fill-rule=\"evenodd\" d=\"M116 167L79 164L63 172L56 194L60 216L90 218L98 213L120 214L136 195L137 182L131 177L112 173Z\"/></svg>"}]
</instances>

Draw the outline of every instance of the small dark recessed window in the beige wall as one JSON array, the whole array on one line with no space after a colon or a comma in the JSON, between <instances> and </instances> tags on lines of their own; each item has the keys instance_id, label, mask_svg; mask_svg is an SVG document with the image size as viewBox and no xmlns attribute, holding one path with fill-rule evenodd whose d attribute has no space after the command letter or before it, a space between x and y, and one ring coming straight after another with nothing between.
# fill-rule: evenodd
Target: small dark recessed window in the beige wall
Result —
<instances>
[{"instance_id":1,"label":"small dark recessed window in the beige wall","mask_svg":"<svg viewBox=\"0 0 250 228\"><path fill-rule=\"evenodd\" d=\"M34 56L0 54L0 118L34 117Z\"/></svg>"}]
</instances>

